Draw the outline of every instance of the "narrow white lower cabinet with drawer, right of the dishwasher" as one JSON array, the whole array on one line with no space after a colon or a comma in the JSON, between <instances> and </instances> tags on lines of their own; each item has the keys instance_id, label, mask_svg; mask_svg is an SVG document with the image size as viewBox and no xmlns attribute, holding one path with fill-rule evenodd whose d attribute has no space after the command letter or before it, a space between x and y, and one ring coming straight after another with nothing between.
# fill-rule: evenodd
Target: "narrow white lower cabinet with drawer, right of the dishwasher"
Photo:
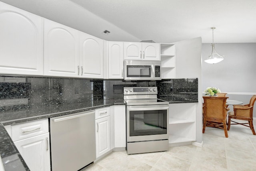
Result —
<instances>
[{"instance_id":1,"label":"narrow white lower cabinet with drawer, right of the dishwasher","mask_svg":"<svg viewBox=\"0 0 256 171\"><path fill-rule=\"evenodd\" d=\"M95 109L96 158L110 151L110 107Z\"/></svg>"}]
</instances>

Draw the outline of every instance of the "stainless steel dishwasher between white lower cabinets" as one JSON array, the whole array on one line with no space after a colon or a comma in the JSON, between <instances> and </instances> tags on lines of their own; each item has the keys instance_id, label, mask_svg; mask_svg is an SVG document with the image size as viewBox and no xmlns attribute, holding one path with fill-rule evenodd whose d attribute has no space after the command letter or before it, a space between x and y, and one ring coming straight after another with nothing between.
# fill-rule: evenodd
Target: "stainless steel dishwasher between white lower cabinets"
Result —
<instances>
[{"instance_id":1,"label":"stainless steel dishwasher between white lower cabinets","mask_svg":"<svg viewBox=\"0 0 256 171\"><path fill-rule=\"evenodd\" d=\"M96 159L95 111L50 118L52 171L77 171Z\"/></svg>"}]
</instances>

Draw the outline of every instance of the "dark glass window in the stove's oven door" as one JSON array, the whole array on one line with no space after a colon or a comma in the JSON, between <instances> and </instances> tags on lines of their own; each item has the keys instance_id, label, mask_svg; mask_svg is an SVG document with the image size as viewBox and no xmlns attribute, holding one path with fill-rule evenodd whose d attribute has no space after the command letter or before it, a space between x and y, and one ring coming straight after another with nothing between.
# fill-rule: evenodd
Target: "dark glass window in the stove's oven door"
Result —
<instances>
[{"instance_id":1,"label":"dark glass window in the stove's oven door","mask_svg":"<svg viewBox=\"0 0 256 171\"><path fill-rule=\"evenodd\" d=\"M130 136L167 134L167 111L130 111Z\"/></svg>"}]
</instances>

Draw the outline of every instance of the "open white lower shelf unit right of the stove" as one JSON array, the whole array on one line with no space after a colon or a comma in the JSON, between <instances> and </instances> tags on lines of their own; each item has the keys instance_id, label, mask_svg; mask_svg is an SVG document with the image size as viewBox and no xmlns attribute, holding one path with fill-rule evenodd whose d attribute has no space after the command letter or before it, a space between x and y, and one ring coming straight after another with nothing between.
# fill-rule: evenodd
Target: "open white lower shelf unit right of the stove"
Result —
<instances>
[{"instance_id":1,"label":"open white lower shelf unit right of the stove","mask_svg":"<svg viewBox=\"0 0 256 171\"><path fill-rule=\"evenodd\" d=\"M169 104L169 143L196 141L196 103Z\"/></svg>"}]
</instances>

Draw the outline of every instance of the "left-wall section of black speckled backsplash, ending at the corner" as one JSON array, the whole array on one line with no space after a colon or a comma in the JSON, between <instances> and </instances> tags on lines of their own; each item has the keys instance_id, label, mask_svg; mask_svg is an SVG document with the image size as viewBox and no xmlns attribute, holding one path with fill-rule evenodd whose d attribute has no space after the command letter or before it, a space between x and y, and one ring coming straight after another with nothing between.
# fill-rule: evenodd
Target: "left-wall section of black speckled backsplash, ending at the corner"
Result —
<instances>
[{"instance_id":1,"label":"left-wall section of black speckled backsplash, ending at the corner","mask_svg":"<svg viewBox=\"0 0 256 171\"><path fill-rule=\"evenodd\" d=\"M0 111L103 99L103 81L0 77Z\"/></svg>"}]
</instances>

